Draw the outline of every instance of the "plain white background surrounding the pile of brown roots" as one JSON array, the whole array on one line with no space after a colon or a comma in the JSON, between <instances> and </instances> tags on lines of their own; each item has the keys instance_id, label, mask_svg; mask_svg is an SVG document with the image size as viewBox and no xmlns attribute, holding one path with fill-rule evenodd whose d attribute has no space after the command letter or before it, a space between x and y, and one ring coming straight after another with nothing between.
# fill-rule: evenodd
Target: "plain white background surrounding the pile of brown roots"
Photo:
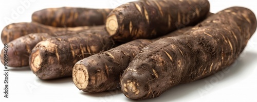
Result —
<instances>
[{"instance_id":1,"label":"plain white background surrounding the pile of brown roots","mask_svg":"<svg viewBox=\"0 0 257 102\"><path fill-rule=\"evenodd\" d=\"M0 29L10 23L31 22L34 11L52 7L114 8L125 0L31 0L30 5L21 4L28 0L0 2ZM243 6L257 14L255 0L210 0L211 12L231 6ZM24 9L22 9L24 8ZM17 10L18 9L18 10ZM20 10L20 11L19 11ZM13 12L19 16L12 17ZM5 19L12 19L6 22ZM3 44L0 44L3 48ZM0 69L1 101L135 101L126 98L121 91L90 94L79 91L71 78L40 80L28 67L9 68L9 98L4 98L4 66ZM223 72L193 83L176 86L161 96L142 101L257 101L257 34L255 33L240 58ZM3 89L2 89L3 88Z\"/></svg>"}]
</instances>

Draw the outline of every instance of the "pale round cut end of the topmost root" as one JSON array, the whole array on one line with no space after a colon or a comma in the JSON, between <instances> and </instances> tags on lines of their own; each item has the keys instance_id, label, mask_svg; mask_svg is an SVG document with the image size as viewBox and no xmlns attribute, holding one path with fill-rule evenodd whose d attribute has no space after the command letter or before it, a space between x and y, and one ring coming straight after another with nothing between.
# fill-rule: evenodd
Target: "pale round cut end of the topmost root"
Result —
<instances>
[{"instance_id":1,"label":"pale round cut end of the topmost root","mask_svg":"<svg viewBox=\"0 0 257 102\"><path fill-rule=\"evenodd\" d=\"M115 14L109 16L106 19L106 30L109 33L109 35L114 35L118 29L118 22L117 22L117 17Z\"/></svg>"}]
</instances>

